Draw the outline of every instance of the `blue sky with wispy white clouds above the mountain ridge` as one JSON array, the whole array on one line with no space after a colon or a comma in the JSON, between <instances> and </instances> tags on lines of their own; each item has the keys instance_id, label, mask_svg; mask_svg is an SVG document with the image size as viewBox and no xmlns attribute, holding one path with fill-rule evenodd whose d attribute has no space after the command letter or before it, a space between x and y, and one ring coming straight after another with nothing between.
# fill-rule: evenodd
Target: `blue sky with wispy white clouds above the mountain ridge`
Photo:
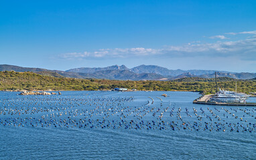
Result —
<instances>
[{"instance_id":1,"label":"blue sky with wispy white clouds above the mountain ridge","mask_svg":"<svg viewBox=\"0 0 256 160\"><path fill-rule=\"evenodd\" d=\"M0 64L256 72L256 1L0 1Z\"/></svg>"}]
</instances>

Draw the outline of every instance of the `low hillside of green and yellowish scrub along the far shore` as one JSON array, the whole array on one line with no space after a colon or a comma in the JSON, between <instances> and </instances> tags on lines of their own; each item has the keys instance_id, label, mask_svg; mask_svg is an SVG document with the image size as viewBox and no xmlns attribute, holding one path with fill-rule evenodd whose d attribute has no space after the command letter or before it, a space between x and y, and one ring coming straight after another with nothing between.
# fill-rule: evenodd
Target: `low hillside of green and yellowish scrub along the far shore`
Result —
<instances>
[{"instance_id":1,"label":"low hillside of green and yellowish scrub along the far shore","mask_svg":"<svg viewBox=\"0 0 256 160\"><path fill-rule=\"evenodd\" d=\"M225 77L218 78L222 89L235 91L235 80ZM68 90L95 91L109 90L115 87L153 91L199 91L215 92L214 79L184 78L175 81L117 81L105 79L74 79L66 77L50 77L31 72L0 72L0 90ZM243 93L256 91L256 80L237 80L237 91Z\"/></svg>"}]
</instances>

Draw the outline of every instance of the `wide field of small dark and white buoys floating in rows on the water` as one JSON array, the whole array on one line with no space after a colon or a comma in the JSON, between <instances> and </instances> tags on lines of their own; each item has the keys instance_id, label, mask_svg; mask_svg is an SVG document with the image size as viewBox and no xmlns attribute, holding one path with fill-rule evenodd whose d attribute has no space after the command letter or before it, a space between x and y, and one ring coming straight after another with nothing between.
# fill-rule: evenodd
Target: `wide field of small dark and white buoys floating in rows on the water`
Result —
<instances>
[{"instance_id":1,"label":"wide field of small dark and white buoys floating in rows on the water","mask_svg":"<svg viewBox=\"0 0 256 160\"><path fill-rule=\"evenodd\" d=\"M146 93L145 93L146 94ZM255 132L253 107L172 103L172 97L31 95L0 97L1 127Z\"/></svg>"}]
</instances>

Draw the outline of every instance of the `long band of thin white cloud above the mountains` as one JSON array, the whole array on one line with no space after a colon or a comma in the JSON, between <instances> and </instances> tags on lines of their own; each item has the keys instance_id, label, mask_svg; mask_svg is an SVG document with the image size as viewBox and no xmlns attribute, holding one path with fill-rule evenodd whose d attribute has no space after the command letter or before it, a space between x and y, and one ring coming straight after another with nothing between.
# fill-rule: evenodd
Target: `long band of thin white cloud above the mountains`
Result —
<instances>
[{"instance_id":1,"label":"long band of thin white cloud above the mountains","mask_svg":"<svg viewBox=\"0 0 256 160\"><path fill-rule=\"evenodd\" d=\"M182 46L169 46L162 49L151 48L115 48L99 49L84 53L64 53L64 59L111 59L139 57L239 57L239 59L256 60L256 37L239 41L217 41L215 43L188 43Z\"/></svg>"}]
</instances>

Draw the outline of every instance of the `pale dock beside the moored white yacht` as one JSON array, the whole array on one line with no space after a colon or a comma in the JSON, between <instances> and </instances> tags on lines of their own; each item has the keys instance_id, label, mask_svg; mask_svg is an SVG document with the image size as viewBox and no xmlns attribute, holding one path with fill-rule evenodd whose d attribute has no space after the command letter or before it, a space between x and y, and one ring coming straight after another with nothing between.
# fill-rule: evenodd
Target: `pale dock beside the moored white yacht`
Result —
<instances>
[{"instance_id":1,"label":"pale dock beside the moored white yacht","mask_svg":"<svg viewBox=\"0 0 256 160\"><path fill-rule=\"evenodd\" d=\"M218 103L218 102L212 102L212 101L209 101L210 97L212 97L212 95L201 96L198 99L195 99L193 101L193 103L194 104L200 104L200 105L256 106L256 103Z\"/></svg>"}]
</instances>

